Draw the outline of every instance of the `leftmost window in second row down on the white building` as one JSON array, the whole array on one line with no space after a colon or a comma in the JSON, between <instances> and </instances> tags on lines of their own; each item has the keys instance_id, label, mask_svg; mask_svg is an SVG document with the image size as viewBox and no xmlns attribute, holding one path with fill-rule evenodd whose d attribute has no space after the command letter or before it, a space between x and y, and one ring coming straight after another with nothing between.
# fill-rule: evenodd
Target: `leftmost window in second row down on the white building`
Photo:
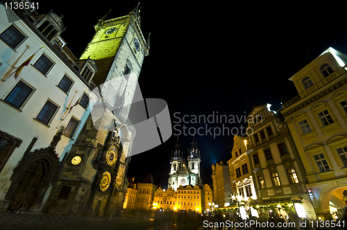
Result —
<instances>
[{"instance_id":1,"label":"leftmost window in second row down on the white building","mask_svg":"<svg viewBox=\"0 0 347 230\"><path fill-rule=\"evenodd\" d=\"M33 89L20 80L15 88L10 91L10 94L6 96L5 100L15 107L20 108L32 92Z\"/></svg>"}]
</instances>

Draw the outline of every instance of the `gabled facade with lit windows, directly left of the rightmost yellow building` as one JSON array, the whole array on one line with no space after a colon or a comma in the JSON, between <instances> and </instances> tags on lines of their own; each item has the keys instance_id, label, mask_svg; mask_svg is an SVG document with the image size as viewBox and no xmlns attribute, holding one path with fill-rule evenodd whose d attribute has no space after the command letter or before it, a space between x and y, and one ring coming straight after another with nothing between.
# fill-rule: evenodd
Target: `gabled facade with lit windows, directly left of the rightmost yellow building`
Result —
<instances>
[{"instance_id":1,"label":"gabled facade with lit windows, directly left of the rightmost yellow building","mask_svg":"<svg viewBox=\"0 0 347 230\"><path fill-rule=\"evenodd\" d=\"M280 112L270 107L254 107L248 115L246 154L257 191L254 195L262 204L276 206L282 216L287 215L283 206L300 203L315 220L298 151Z\"/></svg>"}]
</instances>

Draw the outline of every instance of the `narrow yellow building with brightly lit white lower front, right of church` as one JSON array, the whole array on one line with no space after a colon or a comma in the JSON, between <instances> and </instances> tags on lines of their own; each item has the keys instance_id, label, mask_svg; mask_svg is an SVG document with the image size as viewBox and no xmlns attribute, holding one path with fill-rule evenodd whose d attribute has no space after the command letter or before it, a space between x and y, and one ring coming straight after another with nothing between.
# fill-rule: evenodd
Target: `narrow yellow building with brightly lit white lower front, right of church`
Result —
<instances>
[{"instance_id":1,"label":"narrow yellow building with brightly lit white lower front, right of church","mask_svg":"<svg viewBox=\"0 0 347 230\"><path fill-rule=\"evenodd\" d=\"M234 146L231 151L231 159L228 161L232 195L244 197L245 202L253 202L257 199L251 165L248 159L247 136L234 136ZM230 200L230 203L232 200Z\"/></svg>"}]
</instances>

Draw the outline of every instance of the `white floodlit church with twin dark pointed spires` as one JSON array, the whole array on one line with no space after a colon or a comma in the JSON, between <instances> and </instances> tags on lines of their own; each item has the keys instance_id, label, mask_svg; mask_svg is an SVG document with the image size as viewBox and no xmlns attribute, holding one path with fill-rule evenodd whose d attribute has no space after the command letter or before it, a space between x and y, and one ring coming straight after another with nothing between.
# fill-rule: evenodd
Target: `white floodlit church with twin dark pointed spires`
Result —
<instances>
[{"instance_id":1,"label":"white floodlit church with twin dark pointed spires","mask_svg":"<svg viewBox=\"0 0 347 230\"><path fill-rule=\"evenodd\" d=\"M187 160L183 159L183 152L180 150L177 137L175 149L171 154L168 188L173 188L176 191L180 185L195 186L201 184L200 162L200 151L198 150L197 143L194 141L194 137L188 152Z\"/></svg>"}]
</instances>

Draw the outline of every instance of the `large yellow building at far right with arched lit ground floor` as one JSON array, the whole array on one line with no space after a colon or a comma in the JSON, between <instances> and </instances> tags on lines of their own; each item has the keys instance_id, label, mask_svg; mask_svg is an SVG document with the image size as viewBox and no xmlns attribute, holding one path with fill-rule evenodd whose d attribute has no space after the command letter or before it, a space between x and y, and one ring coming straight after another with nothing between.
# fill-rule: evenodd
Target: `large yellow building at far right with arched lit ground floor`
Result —
<instances>
[{"instance_id":1,"label":"large yellow building at far right with arched lit ground floor","mask_svg":"<svg viewBox=\"0 0 347 230\"><path fill-rule=\"evenodd\" d=\"M328 48L289 78L298 96L282 105L306 170L316 215L325 220L346 207L346 63L346 55Z\"/></svg>"}]
</instances>

